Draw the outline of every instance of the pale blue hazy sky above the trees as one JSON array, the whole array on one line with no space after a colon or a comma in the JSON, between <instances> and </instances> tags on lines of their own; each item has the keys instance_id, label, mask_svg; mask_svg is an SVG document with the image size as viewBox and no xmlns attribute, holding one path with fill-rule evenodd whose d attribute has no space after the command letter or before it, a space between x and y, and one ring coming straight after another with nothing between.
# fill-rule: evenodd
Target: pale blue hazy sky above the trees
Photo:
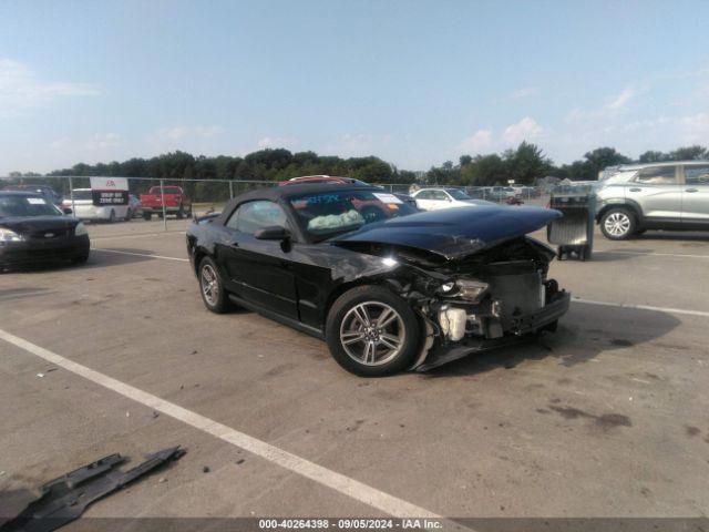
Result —
<instances>
[{"instance_id":1,"label":"pale blue hazy sky above the trees","mask_svg":"<svg viewBox=\"0 0 709 532\"><path fill-rule=\"evenodd\" d=\"M709 144L709 2L0 0L0 175L183 150L428 170Z\"/></svg>"}]
</instances>

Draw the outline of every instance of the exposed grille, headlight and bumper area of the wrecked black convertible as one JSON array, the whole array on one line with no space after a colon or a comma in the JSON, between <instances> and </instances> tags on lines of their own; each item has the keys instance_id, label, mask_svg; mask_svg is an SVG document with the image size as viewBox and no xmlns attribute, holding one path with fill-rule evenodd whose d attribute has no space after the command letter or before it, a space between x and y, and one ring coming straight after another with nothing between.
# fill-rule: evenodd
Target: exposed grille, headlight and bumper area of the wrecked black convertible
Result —
<instances>
[{"instance_id":1,"label":"exposed grille, headlight and bumper area of the wrecked black convertible","mask_svg":"<svg viewBox=\"0 0 709 532\"><path fill-rule=\"evenodd\" d=\"M430 300L420 313L438 335L417 369L555 330L568 310L571 295L547 278L554 256L544 244L522 237L435 272L446 279L435 290L429 288ZM431 280L424 285L431 287Z\"/></svg>"}]
</instances>

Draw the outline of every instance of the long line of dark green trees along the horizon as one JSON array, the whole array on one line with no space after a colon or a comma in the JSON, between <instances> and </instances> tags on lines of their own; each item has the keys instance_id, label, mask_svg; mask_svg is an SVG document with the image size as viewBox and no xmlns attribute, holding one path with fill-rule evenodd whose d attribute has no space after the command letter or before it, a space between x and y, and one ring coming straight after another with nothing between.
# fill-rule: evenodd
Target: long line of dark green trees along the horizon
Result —
<instances>
[{"instance_id":1,"label":"long line of dark green trees along the horizon","mask_svg":"<svg viewBox=\"0 0 709 532\"><path fill-rule=\"evenodd\" d=\"M709 150L692 145L671 152L647 151L633 160L614 147L598 147L587 152L583 158L571 164L555 165L542 149L522 142L516 149L486 155L462 155L458 163L446 161L427 172L399 170L393 164L376 156L349 157L318 155L315 152L291 153L285 149L267 149L249 153L244 157L219 155L194 156L185 152L172 152L151 158L130 158L124 162L84 164L51 172L50 176L125 176L164 180L254 180L281 181L299 175L343 175L369 183L420 183L452 184L461 186L491 186L506 184L532 185L544 176L594 181L598 172L607 166L633 162L709 158ZM14 173L14 177L38 174Z\"/></svg>"}]
</instances>

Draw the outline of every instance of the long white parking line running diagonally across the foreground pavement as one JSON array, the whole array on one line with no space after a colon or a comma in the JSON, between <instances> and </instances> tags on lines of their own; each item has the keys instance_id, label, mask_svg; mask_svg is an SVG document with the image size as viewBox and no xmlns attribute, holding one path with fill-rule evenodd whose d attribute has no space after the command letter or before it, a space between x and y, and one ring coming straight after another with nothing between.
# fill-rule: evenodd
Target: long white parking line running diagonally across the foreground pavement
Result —
<instances>
[{"instance_id":1,"label":"long white parking line running diagonally across the foreground pavement","mask_svg":"<svg viewBox=\"0 0 709 532\"><path fill-rule=\"evenodd\" d=\"M244 432L239 432L230 427L222 424L213 419L209 419L199 413L187 410L179 407L174 402L166 401L157 396L153 396L146 391L134 388L131 385L126 385L120 380L109 377L104 374L100 374L86 366L76 364L68 358L62 357L55 352L37 346L23 338L19 338L10 332L0 329L0 339L12 344L13 346L23 349L32 355L35 355L44 360L64 368L75 375L79 375L92 382L103 386L109 390L115 391L129 399L132 399L141 405L144 405L153 410L171 416L183 423L186 423L195 429L202 430L208 434L219 438L233 446L249 451L269 462L276 463L281 468L285 468L294 473L300 474L307 479L318 482L327 488L330 488L339 493L342 493L356 501L368 504L372 508L381 510L395 518L431 518L436 520L443 520L440 515L430 512L421 507L411 504L402 499L384 493L371 485L367 485L354 479L346 477L341 473L332 471L330 469L318 466L305 458L300 458L297 454L292 454L288 451L284 451L270 443L258 440ZM455 523L446 522L448 524L455 526ZM455 526L462 529L462 526Z\"/></svg>"}]
</instances>

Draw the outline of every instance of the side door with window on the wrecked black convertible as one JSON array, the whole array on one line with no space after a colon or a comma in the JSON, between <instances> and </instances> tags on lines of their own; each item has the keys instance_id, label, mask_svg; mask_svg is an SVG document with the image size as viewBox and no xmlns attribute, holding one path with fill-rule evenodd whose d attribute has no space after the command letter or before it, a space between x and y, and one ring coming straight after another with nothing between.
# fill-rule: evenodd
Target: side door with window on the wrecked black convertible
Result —
<instances>
[{"instance_id":1,"label":"side door with window on the wrecked black convertible","mask_svg":"<svg viewBox=\"0 0 709 532\"><path fill-rule=\"evenodd\" d=\"M270 226L288 228L280 205L264 200L239 205L226 223L230 242L222 257L224 272L234 291L245 301L298 319L290 250L279 241L259 241L254 236L258 229Z\"/></svg>"}]
</instances>

